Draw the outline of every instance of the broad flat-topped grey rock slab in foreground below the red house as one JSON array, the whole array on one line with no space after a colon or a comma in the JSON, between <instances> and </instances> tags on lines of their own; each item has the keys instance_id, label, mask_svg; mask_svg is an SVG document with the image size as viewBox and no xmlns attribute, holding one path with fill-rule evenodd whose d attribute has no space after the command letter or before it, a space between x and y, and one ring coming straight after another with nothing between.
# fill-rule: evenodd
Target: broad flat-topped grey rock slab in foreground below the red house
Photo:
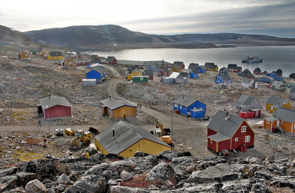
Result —
<instances>
[{"instance_id":1,"label":"broad flat-topped grey rock slab in foreground below the red house","mask_svg":"<svg viewBox=\"0 0 295 193\"><path fill-rule=\"evenodd\" d=\"M241 180L244 173L244 166L241 164L219 163L202 171L195 171L189 176L187 182L202 184L212 182L227 182Z\"/></svg>"}]
</instances>

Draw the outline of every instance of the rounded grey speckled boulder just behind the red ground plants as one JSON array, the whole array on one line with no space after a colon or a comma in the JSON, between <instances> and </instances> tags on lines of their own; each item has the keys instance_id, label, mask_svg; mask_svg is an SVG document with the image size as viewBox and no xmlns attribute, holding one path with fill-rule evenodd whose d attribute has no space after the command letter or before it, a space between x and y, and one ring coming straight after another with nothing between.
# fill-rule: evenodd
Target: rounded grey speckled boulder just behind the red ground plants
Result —
<instances>
[{"instance_id":1,"label":"rounded grey speckled boulder just behind the red ground plants","mask_svg":"<svg viewBox=\"0 0 295 193\"><path fill-rule=\"evenodd\" d=\"M165 180L170 180L174 176L175 176L175 171L173 170L171 165L168 163L162 162L156 165L155 167L153 167L153 169L151 169L147 173L146 179L150 181L155 179L160 179L162 181L165 181Z\"/></svg>"}]
</instances>

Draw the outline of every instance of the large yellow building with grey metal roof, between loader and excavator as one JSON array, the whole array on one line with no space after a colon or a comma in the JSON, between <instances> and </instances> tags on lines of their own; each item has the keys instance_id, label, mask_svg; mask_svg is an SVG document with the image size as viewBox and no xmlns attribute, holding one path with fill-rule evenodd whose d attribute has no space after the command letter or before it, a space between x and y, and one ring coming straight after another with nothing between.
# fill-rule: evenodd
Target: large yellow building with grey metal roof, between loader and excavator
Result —
<instances>
[{"instance_id":1,"label":"large yellow building with grey metal roof, between loader and excavator","mask_svg":"<svg viewBox=\"0 0 295 193\"><path fill-rule=\"evenodd\" d=\"M103 154L114 153L133 157L137 151L159 155L171 147L144 128L119 121L95 136L97 150Z\"/></svg>"}]
</instances>

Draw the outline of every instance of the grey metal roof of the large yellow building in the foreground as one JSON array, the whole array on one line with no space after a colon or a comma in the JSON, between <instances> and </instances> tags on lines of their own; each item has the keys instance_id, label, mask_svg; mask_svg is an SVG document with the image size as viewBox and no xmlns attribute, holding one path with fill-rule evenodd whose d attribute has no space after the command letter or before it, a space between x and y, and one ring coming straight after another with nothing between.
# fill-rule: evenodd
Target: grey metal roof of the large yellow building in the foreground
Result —
<instances>
[{"instance_id":1,"label":"grey metal roof of the large yellow building in the foreground","mask_svg":"<svg viewBox=\"0 0 295 193\"><path fill-rule=\"evenodd\" d=\"M113 138L113 129L115 131L115 138ZM124 121L119 121L107 128L99 135L96 135L95 138L108 153L114 154L123 152L141 139L147 139L163 146L170 147L149 131Z\"/></svg>"}]
</instances>

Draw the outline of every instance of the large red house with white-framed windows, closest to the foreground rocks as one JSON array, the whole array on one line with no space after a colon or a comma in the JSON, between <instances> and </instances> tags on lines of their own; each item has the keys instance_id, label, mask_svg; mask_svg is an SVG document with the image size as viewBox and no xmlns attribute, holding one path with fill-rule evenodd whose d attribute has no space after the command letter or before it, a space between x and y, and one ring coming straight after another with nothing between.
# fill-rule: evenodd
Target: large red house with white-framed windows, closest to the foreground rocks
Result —
<instances>
[{"instance_id":1,"label":"large red house with white-framed windows, closest to the foreground rocks","mask_svg":"<svg viewBox=\"0 0 295 193\"><path fill-rule=\"evenodd\" d=\"M255 133L244 118L219 110L207 126L208 149L217 153L254 147Z\"/></svg>"}]
</instances>

